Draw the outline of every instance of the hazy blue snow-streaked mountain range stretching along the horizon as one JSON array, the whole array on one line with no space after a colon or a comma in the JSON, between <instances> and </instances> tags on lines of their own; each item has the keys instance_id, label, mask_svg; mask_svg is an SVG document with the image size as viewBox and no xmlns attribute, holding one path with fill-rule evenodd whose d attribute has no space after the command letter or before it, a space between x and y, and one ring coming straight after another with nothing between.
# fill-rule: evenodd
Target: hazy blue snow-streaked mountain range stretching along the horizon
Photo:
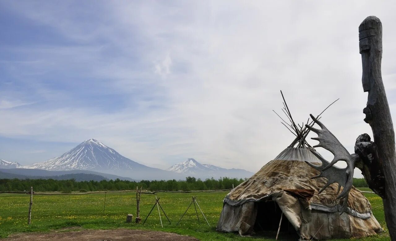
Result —
<instances>
[{"instance_id":1,"label":"hazy blue snow-streaked mountain range stretching along the horizon","mask_svg":"<svg viewBox=\"0 0 396 241\"><path fill-rule=\"evenodd\" d=\"M126 178L122 176L131 180L179 180L185 179L186 176L196 178L225 176L246 178L253 175L253 173L243 169L225 169L210 164L200 164L193 158L177 163L165 171L132 161L95 139L86 140L61 156L28 166L21 166L17 162L0 159L0 169L3 169L3 172L5 172L5 169L10 169L14 175L59 176L86 173L109 179L120 178L124 180ZM7 173L10 173L10 171Z\"/></svg>"}]
</instances>

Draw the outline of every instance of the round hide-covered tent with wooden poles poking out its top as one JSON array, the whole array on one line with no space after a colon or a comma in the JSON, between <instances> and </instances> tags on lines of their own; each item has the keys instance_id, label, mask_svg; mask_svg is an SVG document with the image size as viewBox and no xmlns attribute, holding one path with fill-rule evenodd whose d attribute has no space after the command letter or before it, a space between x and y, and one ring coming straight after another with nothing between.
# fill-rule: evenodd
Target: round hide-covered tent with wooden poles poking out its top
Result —
<instances>
[{"instance_id":1,"label":"round hide-covered tent with wooden poles poking out its top","mask_svg":"<svg viewBox=\"0 0 396 241\"><path fill-rule=\"evenodd\" d=\"M320 172L305 163L320 165L322 162L316 156L319 154L305 140L309 130L296 127L284 104L284 112L291 120L288 129L297 137L276 158L227 194L217 230L250 235L277 233L280 229L281 235L294 235L301 240L360 238L381 232L369 201L353 186L346 211L341 215L343 203L339 203L342 201L337 196L343 188L339 190L338 184L333 183L319 194L327 179L312 179Z\"/></svg>"}]
</instances>

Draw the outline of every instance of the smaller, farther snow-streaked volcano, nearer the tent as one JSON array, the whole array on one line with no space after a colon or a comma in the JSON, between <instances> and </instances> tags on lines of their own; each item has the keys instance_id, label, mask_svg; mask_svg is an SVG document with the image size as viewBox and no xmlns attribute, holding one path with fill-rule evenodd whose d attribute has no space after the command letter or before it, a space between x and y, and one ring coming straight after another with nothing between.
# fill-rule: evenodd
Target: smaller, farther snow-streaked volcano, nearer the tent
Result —
<instances>
[{"instance_id":1,"label":"smaller, farther snow-streaked volcano, nearer the tent","mask_svg":"<svg viewBox=\"0 0 396 241\"><path fill-rule=\"evenodd\" d=\"M167 171L173 171L175 173L182 173L184 175L190 175L197 178L208 178L208 177L236 177L246 178L253 175L253 173L244 169L225 169L217 167L211 164L201 164L194 158L188 158L186 161L177 163L168 169Z\"/></svg>"}]
</instances>

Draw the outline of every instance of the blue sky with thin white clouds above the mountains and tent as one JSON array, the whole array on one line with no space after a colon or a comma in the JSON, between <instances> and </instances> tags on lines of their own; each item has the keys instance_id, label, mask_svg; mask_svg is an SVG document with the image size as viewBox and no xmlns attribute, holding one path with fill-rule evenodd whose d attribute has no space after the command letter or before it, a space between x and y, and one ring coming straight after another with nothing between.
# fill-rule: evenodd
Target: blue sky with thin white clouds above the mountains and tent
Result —
<instances>
[{"instance_id":1,"label":"blue sky with thin white clouds above the mountains and tent","mask_svg":"<svg viewBox=\"0 0 396 241\"><path fill-rule=\"evenodd\" d=\"M150 167L194 158L255 172L294 139L272 112L280 90L298 123L340 98L321 120L353 153L372 136L358 43L369 15L383 24L396 120L394 12L372 1L1 1L0 159L29 165L95 138Z\"/></svg>"}]
</instances>

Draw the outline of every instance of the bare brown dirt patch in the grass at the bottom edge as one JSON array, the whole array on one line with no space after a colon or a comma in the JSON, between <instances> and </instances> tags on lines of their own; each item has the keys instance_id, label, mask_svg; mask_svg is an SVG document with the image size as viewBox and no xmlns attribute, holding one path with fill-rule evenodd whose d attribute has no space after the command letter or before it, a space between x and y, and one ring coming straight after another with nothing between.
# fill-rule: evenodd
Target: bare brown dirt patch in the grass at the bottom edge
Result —
<instances>
[{"instance_id":1,"label":"bare brown dirt patch in the grass at the bottom edge","mask_svg":"<svg viewBox=\"0 0 396 241\"><path fill-rule=\"evenodd\" d=\"M190 241L198 240L194 237L150 230L113 229L113 230L82 230L73 232L54 231L50 233L17 233L1 241L32 241L32 240L81 240L81 241L130 241L130 240L159 240L159 241Z\"/></svg>"}]
</instances>

